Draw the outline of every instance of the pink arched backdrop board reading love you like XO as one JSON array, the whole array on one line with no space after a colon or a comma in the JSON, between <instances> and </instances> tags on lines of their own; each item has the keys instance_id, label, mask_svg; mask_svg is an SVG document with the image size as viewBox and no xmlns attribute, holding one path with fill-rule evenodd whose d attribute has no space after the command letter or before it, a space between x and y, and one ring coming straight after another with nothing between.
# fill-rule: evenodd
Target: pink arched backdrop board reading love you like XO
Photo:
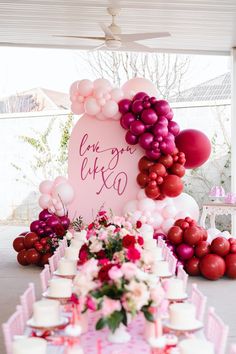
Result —
<instances>
[{"instance_id":1,"label":"pink arched backdrop board reading love you like XO","mask_svg":"<svg viewBox=\"0 0 236 354\"><path fill-rule=\"evenodd\" d=\"M76 191L70 217L82 215L90 222L103 204L121 215L124 204L137 197L142 155L137 146L127 145L119 122L84 115L69 143L69 181Z\"/></svg>"}]
</instances>

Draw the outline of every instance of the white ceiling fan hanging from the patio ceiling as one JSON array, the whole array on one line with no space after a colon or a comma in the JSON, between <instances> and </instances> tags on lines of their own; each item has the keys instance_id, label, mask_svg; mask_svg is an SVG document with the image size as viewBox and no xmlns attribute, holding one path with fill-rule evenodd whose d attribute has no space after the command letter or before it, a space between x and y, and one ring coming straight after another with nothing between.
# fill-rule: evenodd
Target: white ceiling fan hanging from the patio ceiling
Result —
<instances>
[{"instance_id":1,"label":"white ceiling fan hanging from the patio ceiling","mask_svg":"<svg viewBox=\"0 0 236 354\"><path fill-rule=\"evenodd\" d=\"M123 34L121 28L116 23L116 16L119 15L121 9L117 7L108 7L107 12L112 16L112 23L106 26L104 23L99 23L101 29L104 32L103 37L89 37L89 36L56 36L64 38L79 38L87 40L102 41L101 45L94 47L93 49L111 49L111 50L133 50L133 51L156 51L156 48L151 48L143 44L137 43L136 41L141 41L145 39L152 38L163 38L169 37L169 32L151 32L151 33L132 33ZM80 47L83 49L83 47ZM84 47L86 49L91 47Z\"/></svg>"}]
</instances>

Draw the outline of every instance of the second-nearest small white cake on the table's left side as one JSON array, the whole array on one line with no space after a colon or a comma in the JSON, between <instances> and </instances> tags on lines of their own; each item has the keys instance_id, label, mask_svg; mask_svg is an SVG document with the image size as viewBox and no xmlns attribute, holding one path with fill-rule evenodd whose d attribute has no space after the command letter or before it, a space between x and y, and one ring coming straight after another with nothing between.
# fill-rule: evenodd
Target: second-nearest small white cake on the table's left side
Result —
<instances>
[{"instance_id":1,"label":"second-nearest small white cake on the table's left side","mask_svg":"<svg viewBox=\"0 0 236 354\"><path fill-rule=\"evenodd\" d=\"M36 326L55 326L60 322L60 318L61 313L59 301L45 299L36 301L33 304L33 321Z\"/></svg>"}]
</instances>

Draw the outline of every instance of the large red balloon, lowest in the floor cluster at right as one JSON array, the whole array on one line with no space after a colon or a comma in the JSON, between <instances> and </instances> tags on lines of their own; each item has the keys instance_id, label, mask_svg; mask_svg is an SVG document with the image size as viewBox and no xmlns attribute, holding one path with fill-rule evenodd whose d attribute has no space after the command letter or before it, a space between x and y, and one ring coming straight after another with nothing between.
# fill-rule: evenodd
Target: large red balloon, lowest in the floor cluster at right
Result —
<instances>
[{"instance_id":1,"label":"large red balloon, lowest in the floor cluster at right","mask_svg":"<svg viewBox=\"0 0 236 354\"><path fill-rule=\"evenodd\" d=\"M225 273L225 261L217 254L207 254L200 259L200 272L209 280L217 280Z\"/></svg>"}]
</instances>

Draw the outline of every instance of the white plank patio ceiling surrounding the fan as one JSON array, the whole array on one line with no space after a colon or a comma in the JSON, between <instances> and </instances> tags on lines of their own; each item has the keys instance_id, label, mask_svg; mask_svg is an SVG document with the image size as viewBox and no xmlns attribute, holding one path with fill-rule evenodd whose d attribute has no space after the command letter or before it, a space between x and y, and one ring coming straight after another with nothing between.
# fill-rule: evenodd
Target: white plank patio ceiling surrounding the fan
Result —
<instances>
[{"instance_id":1,"label":"white plank patio ceiling surrounding the fan","mask_svg":"<svg viewBox=\"0 0 236 354\"><path fill-rule=\"evenodd\" d=\"M117 23L123 33L171 33L168 38L139 42L155 51L225 55L236 47L236 0L124 0L115 3L122 8ZM0 45L93 48L100 42L55 35L102 35L98 22L110 24L108 5L105 0L0 1Z\"/></svg>"}]
</instances>

